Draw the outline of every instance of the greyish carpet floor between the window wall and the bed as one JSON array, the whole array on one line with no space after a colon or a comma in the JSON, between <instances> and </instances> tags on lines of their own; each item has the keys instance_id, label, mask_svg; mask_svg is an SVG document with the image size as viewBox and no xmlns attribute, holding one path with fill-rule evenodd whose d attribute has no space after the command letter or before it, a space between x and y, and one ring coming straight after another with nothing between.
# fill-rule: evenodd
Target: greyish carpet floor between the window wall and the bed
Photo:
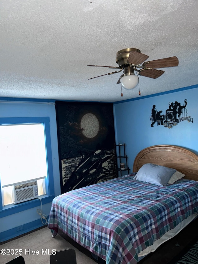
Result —
<instances>
[{"instance_id":1,"label":"greyish carpet floor between the window wall and the bed","mask_svg":"<svg viewBox=\"0 0 198 264\"><path fill-rule=\"evenodd\" d=\"M76 249L61 236L57 235L55 238L52 238L52 233L47 227L8 241L4 244L1 243L0 252L3 252L1 251L2 249L6 249L7 254L0 255L0 264L5 264L19 256L13 255L13 253L19 254L17 249L21 249L20 252L22 252L22 256L27 264L49 264L49 254L52 253L52 249L62 250L67 248L75 249L76 261L78 264L96 264L93 259Z\"/></svg>"}]
</instances>

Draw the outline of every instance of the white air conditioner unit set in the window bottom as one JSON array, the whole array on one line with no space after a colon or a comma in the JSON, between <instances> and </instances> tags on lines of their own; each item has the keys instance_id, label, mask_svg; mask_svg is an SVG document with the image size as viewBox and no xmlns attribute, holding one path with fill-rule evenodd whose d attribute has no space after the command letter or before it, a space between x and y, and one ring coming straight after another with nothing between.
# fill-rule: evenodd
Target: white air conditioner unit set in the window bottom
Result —
<instances>
[{"instance_id":1,"label":"white air conditioner unit set in the window bottom","mask_svg":"<svg viewBox=\"0 0 198 264\"><path fill-rule=\"evenodd\" d=\"M24 181L14 184L13 198L14 204L32 200L38 197L37 180Z\"/></svg>"}]
</instances>

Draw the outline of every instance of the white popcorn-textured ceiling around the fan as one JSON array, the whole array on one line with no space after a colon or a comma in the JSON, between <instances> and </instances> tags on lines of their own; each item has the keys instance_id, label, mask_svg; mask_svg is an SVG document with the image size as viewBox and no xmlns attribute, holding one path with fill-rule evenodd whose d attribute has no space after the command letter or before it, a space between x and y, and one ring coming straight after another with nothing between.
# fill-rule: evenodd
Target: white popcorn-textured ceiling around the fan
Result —
<instances>
[{"instance_id":1,"label":"white popcorn-textured ceiling around the fan","mask_svg":"<svg viewBox=\"0 0 198 264\"><path fill-rule=\"evenodd\" d=\"M198 84L197 0L2 0L0 96L115 102L139 97L116 84L116 53L177 56L157 79L139 76L141 96Z\"/></svg>"}]
</instances>

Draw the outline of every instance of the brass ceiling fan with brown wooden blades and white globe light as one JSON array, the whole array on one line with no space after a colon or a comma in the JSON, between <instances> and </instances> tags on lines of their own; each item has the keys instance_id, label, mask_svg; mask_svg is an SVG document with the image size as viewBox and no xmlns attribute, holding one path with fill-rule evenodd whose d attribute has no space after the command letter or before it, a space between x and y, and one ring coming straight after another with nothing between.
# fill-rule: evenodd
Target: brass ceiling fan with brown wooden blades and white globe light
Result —
<instances>
[{"instance_id":1,"label":"brass ceiling fan with brown wooden blades and white globe light","mask_svg":"<svg viewBox=\"0 0 198 264\"><path fill-rule=\"evenodd\" d=\"M124 73L123 75L120 76L119 80L117 81L117 84L121 83L121 88L123 87L126 89L133 89L139 83L138 75L156 79L164 73L164 71L157 70L156 68L174 67L174 66L178 66L179 64L179 60L175 56L144 62L148 58L149 56L141 53L140 50L138 49L127 48L127 49L119 50L116 54L116 63L118 64L119 67L87 65L93 67L108 67L110 69L120 69L119 71L114 71L93 78L89 78L88 80L101 77L104 75L118 73L124 70ZM142 65L140 66L140 64ZM135 71L137 75L135 75ZM139 89L139 94L140 94L140 89ZM121 96L123 96L122 93Z\"/></svg>"}]
</instances>

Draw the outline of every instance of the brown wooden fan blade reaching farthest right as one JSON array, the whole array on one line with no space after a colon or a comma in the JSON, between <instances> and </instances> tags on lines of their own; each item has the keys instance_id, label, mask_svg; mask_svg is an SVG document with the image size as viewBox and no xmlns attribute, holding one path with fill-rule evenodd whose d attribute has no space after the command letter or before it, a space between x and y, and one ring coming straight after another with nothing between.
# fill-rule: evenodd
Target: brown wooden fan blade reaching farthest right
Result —
<instances>
[{"instance_id":1,"label":"brown wooden fan blade reaching farthest right","mask_svg":"<svg viewBox=\"0 0 198 264\"><path fill-rule=\"evenodd\" d=\"M166 67L174 67L178 66L179 60L177 57L169 57L169 58L163 58L153 61L146 61L143 63L143 67L146 68L166 68Z\"/></svg>"}]
</instances>

